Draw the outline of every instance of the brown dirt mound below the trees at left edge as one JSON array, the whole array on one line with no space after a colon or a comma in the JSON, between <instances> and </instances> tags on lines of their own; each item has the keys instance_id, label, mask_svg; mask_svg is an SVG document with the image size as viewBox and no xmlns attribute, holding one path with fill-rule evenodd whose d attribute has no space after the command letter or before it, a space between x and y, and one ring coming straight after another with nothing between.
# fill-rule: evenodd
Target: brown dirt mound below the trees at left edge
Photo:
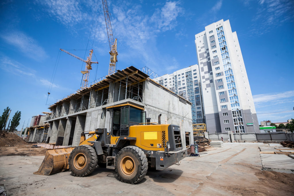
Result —
<instances>
[{"instance_id":1,"label":"brown dirt mound below the trees at left edge","mask_svg":"<svg viewBox=\"0 0 294 196\"><path fill-rule=\"evenodd\" d=\"M28 144L28 143L14 133L0 131L0 147L6 146L6 145L15 146L18 144Z\"/></svg>"}]
</instances>

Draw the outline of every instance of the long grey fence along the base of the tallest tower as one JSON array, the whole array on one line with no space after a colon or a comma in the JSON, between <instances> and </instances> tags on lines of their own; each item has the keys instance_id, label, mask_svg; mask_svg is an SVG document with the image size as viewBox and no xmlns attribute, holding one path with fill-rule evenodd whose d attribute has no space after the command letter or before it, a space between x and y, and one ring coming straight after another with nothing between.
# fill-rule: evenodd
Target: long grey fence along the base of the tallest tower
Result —
<instances>
[{"instance_id":1,"label":"long grey fence along the base of the tallest tower","mask_svg":"<svg viewBox=\"0 0 294 196\"><path fill-rule=\"evenodd\" d=\"M228 140L228 133L207 133L205 132L205 137L211 140L221 140L223 136L224 140ZM294 142L294 133L285 132L270 132L270 133L233 133L234 140L243 141L292 141Z\"/></svg>"}]
</instances>

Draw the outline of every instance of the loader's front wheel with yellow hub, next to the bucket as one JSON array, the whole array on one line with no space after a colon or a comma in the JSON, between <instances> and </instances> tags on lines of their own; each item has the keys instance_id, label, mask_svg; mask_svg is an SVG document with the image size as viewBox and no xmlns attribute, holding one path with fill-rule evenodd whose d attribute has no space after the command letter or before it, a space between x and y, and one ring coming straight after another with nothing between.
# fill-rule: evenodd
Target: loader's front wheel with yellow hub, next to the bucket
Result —
<instances>
[{"instance_id":1,"label":"loader's front wheel with yellow hub, next to the bucket","mask_svg":"<svg viewBox=\"0 0 294 196\"><path fill-rule=\"evenodd\" d=\"M91 174L97 167L97 154L93 147L81 145L69 155L69 170L72 175L84 177Z\"/></svg>"}]
</instances>

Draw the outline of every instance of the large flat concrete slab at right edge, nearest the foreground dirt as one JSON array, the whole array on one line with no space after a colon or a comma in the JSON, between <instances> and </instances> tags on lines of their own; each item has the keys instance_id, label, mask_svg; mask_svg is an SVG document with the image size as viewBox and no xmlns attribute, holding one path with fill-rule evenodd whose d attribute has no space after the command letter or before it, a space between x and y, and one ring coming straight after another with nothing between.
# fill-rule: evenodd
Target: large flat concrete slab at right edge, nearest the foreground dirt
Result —
<instances>
[{"instance_id":1,"label":"large flat concrete slab at right edge, nearest the foreground dirt","mask_svg":"<svg viewBox=\"0 0 294 196\"><path fill-rule=\"evenodd\" d=\"M287 155L260 154L263 170L294 174L294 159Z\"/></svg>"}]
</instances>

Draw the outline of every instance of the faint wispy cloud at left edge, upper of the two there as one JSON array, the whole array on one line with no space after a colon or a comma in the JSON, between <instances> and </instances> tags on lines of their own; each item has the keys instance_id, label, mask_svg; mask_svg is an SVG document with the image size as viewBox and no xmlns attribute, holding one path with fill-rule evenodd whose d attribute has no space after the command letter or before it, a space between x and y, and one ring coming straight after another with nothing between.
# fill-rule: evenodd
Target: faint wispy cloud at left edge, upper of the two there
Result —
<instances>
[{"instance_id":1,"label":"faint wispy cloud at left edge, upper of the two there","mask_svg":"<svg viewBox=\"0 0 294 196\"><path fill-rule=\"evenodd\" d=\"M21 31L9 31L9 29L6 29L6 33L2 34L1 38L36 61L41 61L48 57L44 49L37 44L37 41Z\"/></svg>"}]
</instances>

